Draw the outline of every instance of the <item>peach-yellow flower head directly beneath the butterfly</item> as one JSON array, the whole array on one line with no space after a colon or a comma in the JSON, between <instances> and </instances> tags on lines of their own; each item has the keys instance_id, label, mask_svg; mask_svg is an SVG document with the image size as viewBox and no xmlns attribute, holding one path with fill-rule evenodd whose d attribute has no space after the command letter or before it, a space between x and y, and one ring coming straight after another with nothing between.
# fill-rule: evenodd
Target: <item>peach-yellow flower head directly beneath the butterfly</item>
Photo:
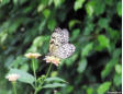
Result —
<instances>
[{"instance_id":1,"label":"peach-yellow flower head directly beneath the butterfly","mask_svg":"<svg viewBox=\"0 0 123 94\"><path fill-rule=\"evenodd\" d=\"M60 63L60 59L54 56L45 56L44 60L46 60L46 62L54 63L55 66Z\"/></svg>"}]
</instances>

